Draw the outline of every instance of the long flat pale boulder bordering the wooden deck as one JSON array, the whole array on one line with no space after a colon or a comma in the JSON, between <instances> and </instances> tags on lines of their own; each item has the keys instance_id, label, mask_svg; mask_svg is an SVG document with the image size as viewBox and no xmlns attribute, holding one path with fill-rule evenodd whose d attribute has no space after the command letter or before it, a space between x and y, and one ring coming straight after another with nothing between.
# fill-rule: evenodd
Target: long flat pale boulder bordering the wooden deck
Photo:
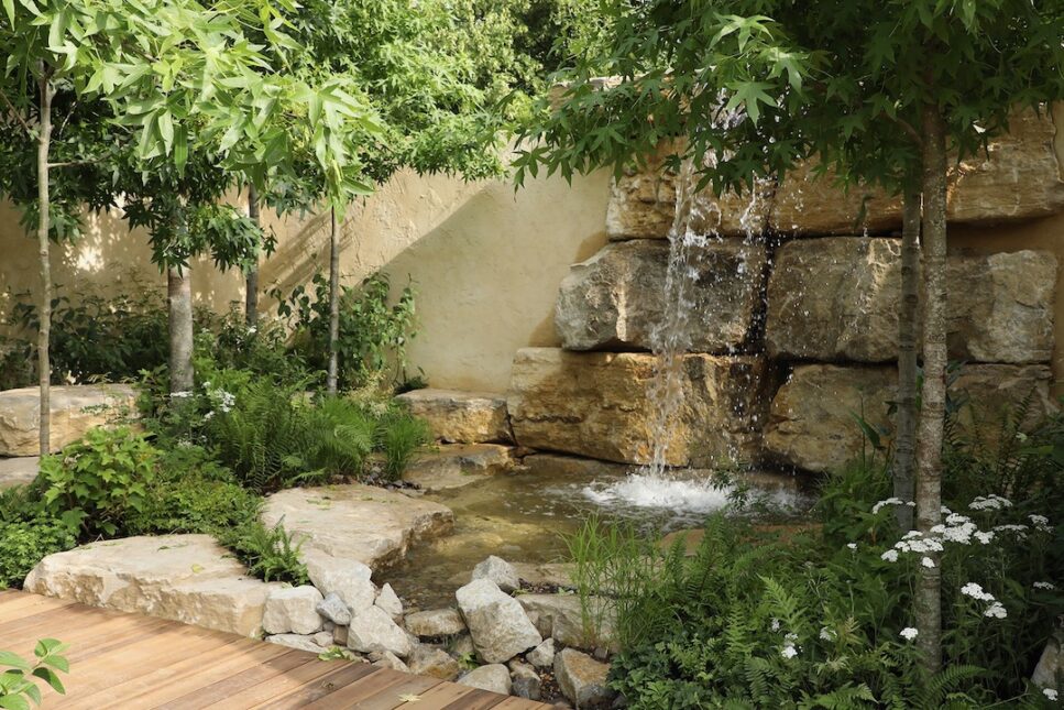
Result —
<instances>
[{"instance_id":1,"label":"long flat pale boulder bordering the wooden deck","mask_svg":"<svg viewBox=\"0 0 1064 710\"><path fill-rule=\"evenodd\" d=\"M209 535L112 539L48 555L29 592L256 636L278 585L248 576Z\"/></svg>"}]
</instances>

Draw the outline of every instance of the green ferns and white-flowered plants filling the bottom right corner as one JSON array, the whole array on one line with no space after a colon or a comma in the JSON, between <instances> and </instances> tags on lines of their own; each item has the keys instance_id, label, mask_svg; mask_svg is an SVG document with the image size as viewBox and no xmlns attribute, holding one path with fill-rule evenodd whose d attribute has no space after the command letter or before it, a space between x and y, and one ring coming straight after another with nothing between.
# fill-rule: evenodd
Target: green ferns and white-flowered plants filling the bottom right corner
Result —
<instances>
[{"instance_id":1,"label":"green ferns and white-flowered plants filling the bottom right corner","mask_svg":"<svg viewBox=\"0 0 1064 710\"><path fill-rule=\"evenodd\" d=\"M929 535L898 531L882 456L830 477L819 521L783 535L722 515L688 555L590 521L571 547L585 622L595 594L616 613L611 686L635 708L1055 707L1028 679L1064 612L1062 426L947 427ZM929 550L945 659L930 677L912 609Z\"/></svg>"}]
</instances>

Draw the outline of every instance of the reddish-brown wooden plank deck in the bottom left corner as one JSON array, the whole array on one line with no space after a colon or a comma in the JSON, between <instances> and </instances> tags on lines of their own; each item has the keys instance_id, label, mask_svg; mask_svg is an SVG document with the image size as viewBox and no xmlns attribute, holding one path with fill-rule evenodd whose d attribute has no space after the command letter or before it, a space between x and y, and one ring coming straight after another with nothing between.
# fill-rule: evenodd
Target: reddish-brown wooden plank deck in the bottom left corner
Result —
<instances>
[{"instance_id":1,"label":"reddish-brown wooden plank deck in the bottom left corner","mask_svg":"<svg viewBox=\"0 0 1064 710\"><path fill-rule=\"evenodd\" d=\"M46 690L44 708L550 707L369 664L319 660L175 621L0 592L0 649L30 657L36 640L46 637L69 645L70 673L62 675L66 695Z\"/></svg>"}]
</instances>

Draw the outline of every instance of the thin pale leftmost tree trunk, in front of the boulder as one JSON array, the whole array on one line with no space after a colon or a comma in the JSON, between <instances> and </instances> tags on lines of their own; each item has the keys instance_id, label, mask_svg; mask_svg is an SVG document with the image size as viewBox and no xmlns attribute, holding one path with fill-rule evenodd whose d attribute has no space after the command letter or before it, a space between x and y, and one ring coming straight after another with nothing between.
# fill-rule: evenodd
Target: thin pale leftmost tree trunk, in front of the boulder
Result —
<instances>
[{"instance_id":1,"label":"thin pale leftmost tree trunk, in front of the boulder","mask_svg":"<svg viewBox=\"0 0 1064 710\"><path fill-rule=\"evenodd\" d=\"M41 456L52 450L52 361L48 346L52 338L52 250L48 242L51 195L48 153L52 144L52 80L40 65L37 81L41 92L41 133L37 135L37 247L41 255L41 325L37 328L37 378L41 384Z\"/></svg>"}]
</instances>

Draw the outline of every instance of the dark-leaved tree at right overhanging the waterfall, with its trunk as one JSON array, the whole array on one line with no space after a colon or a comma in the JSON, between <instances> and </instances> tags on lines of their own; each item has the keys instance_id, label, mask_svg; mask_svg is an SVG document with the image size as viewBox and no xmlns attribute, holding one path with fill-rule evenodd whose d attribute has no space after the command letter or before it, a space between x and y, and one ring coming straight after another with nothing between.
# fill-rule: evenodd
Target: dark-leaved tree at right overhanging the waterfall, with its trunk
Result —
<instances>
[{"instance_id":1,"label":"dark-leaved tree at right overhanging the waterfall, with its trunk","mask_svg":"<svg viewBox=\"0 0 1064 710\"><path fill-rule=\"evenodd\" d=\"M910 266L915 218L922 221L915 500L917 528L933 535L942 515L947 155L979 151L1008 130L1017 107L1042 110L1064 98L1064 4L603 0L600 12L605 36L562 73L569 84L558 108L544 102L523 133L517 183L540 170L567 178L602 166L619 173L683 136L669 163L689 161L699 186L717 193L782 179L815 157L816 174L903 194ZM603 74L617 83L603 86L595 80ZM912 386L915 368L903 371ZM930 559L915 620L934 670L940 570L936 555Z\"/></svg>"}]
</instances>

